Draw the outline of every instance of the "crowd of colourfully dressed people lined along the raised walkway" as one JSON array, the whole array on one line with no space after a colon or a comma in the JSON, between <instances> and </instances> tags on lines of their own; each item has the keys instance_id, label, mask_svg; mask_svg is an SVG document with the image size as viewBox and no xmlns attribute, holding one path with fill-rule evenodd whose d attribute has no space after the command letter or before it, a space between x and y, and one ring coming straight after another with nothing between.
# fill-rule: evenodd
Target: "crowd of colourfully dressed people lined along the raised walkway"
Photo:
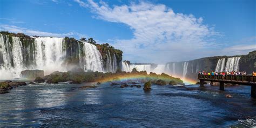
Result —
<instances>
[{"instance_id":1,"label":"crowd of colourfully dressed people lined along the raised walkway","mask_svg":"<svg viewBox=\"0 0 256 128\"><path fill-rule=\"evenodd\" d=\"M246 72L239 72L239 71L232 71L232 72L211 72L211 73L207 73L204 71L199 71L198 72L199 75L246 75ZM256 76L256 72L252 72L252 76Z\"/></svg>"}]
</instances>

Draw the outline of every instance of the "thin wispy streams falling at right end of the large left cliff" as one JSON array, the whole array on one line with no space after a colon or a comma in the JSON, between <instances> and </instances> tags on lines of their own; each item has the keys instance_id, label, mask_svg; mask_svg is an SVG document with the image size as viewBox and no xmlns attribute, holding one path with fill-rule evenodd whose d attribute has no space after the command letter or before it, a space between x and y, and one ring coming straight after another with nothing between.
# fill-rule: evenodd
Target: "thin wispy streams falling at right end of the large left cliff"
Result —
<instances>
[{"instance_id":1,"label":"thin wispy streams falling at right end of the large left cliff","mask_svg":"<svg viewBox=\"0 0 256 128\"><path fill-rule=\"evenodd\" d=\"M106 72L115 73L117 71L117 58L116 54L113 54L113 59L109 51L107 51L107 61L106 61Z\"/></svg>"}]
</instances>

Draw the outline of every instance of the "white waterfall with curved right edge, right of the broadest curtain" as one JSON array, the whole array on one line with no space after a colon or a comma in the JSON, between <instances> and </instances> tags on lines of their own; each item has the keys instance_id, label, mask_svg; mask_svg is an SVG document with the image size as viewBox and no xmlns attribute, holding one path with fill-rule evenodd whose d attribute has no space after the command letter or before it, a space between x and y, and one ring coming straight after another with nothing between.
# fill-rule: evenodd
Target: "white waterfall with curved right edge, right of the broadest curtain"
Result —
<instances>
[{"instance_id":1,"label":"white waterfall with curved right edge, right of the broadest curtain","mask_svg":"<svg viewBox=\"0 0 256 128\"><path fill-rule=\"evenodd\" d=\"M97 47L88 42L83 42L83 44L85 54L83 56L79 54L80 66L82 66L85 71L92 70L94 72L103 72L102 55L100 55Z\"/></svg>"}]
</instances>

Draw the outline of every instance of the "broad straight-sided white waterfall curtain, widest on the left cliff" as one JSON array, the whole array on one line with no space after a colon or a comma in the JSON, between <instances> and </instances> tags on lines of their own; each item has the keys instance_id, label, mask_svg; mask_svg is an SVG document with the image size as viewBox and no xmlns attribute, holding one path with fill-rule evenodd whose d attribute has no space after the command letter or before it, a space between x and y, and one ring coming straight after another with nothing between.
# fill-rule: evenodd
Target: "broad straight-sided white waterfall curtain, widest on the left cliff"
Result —
<instances>
[{"instance_id":1,"label":"broad straight-sided white waterfall curtain, widest on the left cliff","mask_svg":"<svg viewBox=\"0 0 256 128\"><path fill-rule=\"evenodd\" d=\"M64 38L56 37L35 38L37 69L43 69L45 74L50 74L53 70L66 71L62 67L65 57L63 41Z\"/></svg>"}]
</instances>

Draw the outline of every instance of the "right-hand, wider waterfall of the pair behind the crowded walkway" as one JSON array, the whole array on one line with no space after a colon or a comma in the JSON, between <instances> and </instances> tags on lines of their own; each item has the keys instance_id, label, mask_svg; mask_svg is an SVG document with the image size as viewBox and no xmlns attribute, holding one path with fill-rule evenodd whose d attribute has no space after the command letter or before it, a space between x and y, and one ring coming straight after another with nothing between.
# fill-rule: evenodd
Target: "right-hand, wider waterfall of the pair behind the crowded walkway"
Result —
<instances>
[{"instance_id":1,"label":"right-hand, wider waterfall of the pair behind the crowded walkway","mask_svg":"<svg viewBox=\"0 0 256 128\"><path fill-rule=\"evenodd\" d=\"M241 57L228 58L225 67L225 72L238 71L240 58Z\"/></svg>"}]
</instances>

